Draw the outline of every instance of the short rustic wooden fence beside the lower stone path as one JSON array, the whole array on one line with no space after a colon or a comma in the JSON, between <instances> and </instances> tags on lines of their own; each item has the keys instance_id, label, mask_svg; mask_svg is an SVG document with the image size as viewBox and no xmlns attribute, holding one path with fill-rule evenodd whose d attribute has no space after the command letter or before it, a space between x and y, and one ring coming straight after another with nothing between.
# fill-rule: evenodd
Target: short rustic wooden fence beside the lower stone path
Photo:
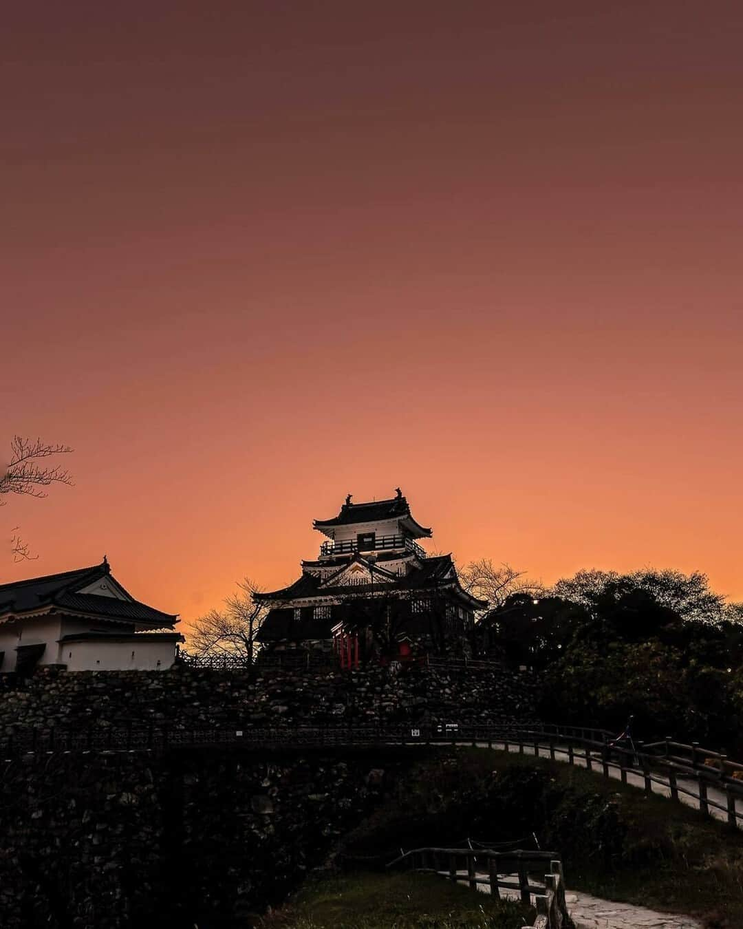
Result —
<instances>
[{"instance_id":1,"label":"short rustic wooden fence beside the lower stone path","mask_svg":"<svg viewBox=\"0 0 743 929\"><path fill-rule=\"evenodd\" d=\"M487 884L492 896L501 896L502 889L517 891L521 902L527 905L534 895L537 916L530 929L563 929L571 924L562 858L556 852L414 848L387 865L396 867L439 874L454 883L467 883L473 890L478 884ZM549 868L546 874L545 867ZM531 883L534 874L543 875L543 885Z\"/></svg>"}]
</instances>

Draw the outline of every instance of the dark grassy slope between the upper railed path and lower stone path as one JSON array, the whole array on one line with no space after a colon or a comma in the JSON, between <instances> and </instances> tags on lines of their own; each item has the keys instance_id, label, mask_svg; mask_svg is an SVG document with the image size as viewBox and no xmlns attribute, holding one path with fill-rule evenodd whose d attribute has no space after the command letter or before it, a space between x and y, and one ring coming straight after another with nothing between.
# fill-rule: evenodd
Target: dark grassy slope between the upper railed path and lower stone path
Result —
<instances>
[{"instance_id":1,"label":"dark grassy slope between the upper railed path and lower stone path","mask_svg":"<svg viewBox=\"0 0 743 929\"><path fill-rule=\"evenodd\" d=\"M717 913L710 925L743 926L740 831L618 780L528 756L459 749L426 759L343 851L391 860L400 845L532 832L541 848L562 854L570 889L702 919Z\"/></svg>"}]
</instances>

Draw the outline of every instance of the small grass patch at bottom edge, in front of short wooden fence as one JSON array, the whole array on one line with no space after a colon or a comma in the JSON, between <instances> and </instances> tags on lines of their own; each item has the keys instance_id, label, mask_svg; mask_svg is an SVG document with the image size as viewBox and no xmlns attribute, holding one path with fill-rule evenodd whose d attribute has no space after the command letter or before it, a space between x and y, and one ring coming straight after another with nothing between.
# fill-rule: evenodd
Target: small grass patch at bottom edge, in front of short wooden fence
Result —
<instances>
[{"instance_id":1,"label":"small grass patch at bottom edge, in front of short wooden fence","mask_svg":"<svg viewBox=\"0 0 743 929\"><path fill-rule=\"evenodd\" d=\"M265 929L521 929L534 911L434 874L312 877Z\"/></svg>"}]
</instances>

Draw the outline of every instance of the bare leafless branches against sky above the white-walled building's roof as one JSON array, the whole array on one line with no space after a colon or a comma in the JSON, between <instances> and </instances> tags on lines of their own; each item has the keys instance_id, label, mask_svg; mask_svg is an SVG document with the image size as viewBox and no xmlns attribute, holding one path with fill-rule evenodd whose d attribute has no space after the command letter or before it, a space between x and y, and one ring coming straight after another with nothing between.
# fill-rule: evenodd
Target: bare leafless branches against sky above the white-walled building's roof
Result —
<instances>
[{"instance_id":1,"label":"bare leafless branches against sky above the white-walled building's roof","mask_svg":"<svg viewBox=\"0 0 743 929\"><path fill-rule=\"evenodd\" d=\"M27 497L46 497L51 484L72 484L70 472L59 464L49 466L46 459L53 455L68 454L69 445L49 445L41 438L14 436L10 441L10 461L0 473L0 506L7 504L6 496L16 493ZM10 551L14 561L33 557L29 544L20 536L20 528L10 530Z\"/></svg>"}]
</instances>

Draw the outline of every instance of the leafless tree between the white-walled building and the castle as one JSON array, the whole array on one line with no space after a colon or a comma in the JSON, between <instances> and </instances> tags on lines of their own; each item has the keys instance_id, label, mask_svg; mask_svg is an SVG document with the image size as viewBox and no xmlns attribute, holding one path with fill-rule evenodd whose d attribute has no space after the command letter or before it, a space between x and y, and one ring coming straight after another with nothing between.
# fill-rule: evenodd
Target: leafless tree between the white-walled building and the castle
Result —
<instances>
[{"instance_id":1,"label":"leafless tree between the white-walled building and the castle","mask_svg":"<svg viewBox=\"0 0 743 929\"><path fill-rule=\"evenodd\" d=\"M188 636L192 655L225 655L253 661L255 635L266 619L266 604L256 603L253 595L259 588L249 578L238 583L235 594L228 596L223 609L210 609L193 623Z\"/></svg>"}]
</instances>

